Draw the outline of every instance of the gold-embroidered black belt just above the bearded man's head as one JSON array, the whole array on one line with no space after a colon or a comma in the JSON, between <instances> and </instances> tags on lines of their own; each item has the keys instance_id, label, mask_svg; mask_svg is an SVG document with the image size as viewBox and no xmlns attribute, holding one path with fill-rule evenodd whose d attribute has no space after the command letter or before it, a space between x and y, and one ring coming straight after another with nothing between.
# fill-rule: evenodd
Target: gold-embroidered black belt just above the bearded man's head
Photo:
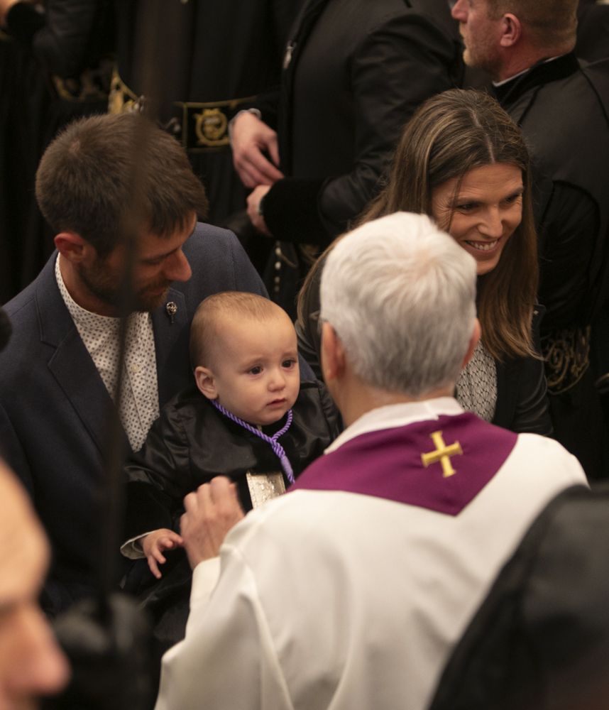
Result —
<instances>
[{"instance_id":1,"label":"gold-embroidered black belt just above the bearded man's head","mask_svg":"<svg viewBox=\"0 0 609 710\"><path fill-rule=\"evenodd\" d=\"M217 102L182 102L173 105L180 109L180 118L171 119L163 128L175 133L187 151L207 151L229 145L229 120L239 104L252 102L255 96ZM144 111L146 97L138 96L121 80L114 70L108 102L111 114Z\"/></svg>"}]
</instances>

